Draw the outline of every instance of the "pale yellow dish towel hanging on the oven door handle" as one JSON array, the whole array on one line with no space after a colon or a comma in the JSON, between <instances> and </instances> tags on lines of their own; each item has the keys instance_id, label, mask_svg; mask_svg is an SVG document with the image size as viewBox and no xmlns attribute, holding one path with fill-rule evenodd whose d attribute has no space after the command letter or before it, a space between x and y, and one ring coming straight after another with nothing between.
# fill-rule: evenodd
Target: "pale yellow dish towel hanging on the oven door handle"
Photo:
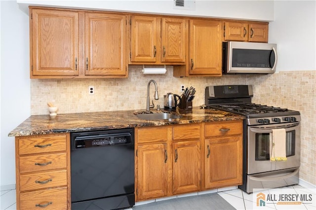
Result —
<instances>
[{"instance_id":1,"label":"pale yellow dish towel hanging on the oven door handle","mask_svg":"<svg viewBox=\"0 0 316 210\"><path fill-rule=\"evenodd\" d=\"M284 128L272 129L272 134L270 134L270 161L287 161L286 132Z\"/></svg>"}]
</instances>

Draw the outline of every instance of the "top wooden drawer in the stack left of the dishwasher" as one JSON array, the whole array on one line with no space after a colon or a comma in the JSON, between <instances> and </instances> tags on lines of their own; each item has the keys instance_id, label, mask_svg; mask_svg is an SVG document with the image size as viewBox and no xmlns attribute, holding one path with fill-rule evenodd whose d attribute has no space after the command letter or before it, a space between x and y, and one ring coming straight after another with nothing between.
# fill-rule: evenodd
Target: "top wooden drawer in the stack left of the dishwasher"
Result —
<instances>
[{"instance_id":1,"label":"top wooden drawer in the stack left of the dishwasher","mask_svg":"<svg viewBox=\"0 0 316 210\"><path fill-rule=\"evenodd\" d=\"M19 140L19 154L66 151L66 135Z\"/></svg>"}]
</instances>

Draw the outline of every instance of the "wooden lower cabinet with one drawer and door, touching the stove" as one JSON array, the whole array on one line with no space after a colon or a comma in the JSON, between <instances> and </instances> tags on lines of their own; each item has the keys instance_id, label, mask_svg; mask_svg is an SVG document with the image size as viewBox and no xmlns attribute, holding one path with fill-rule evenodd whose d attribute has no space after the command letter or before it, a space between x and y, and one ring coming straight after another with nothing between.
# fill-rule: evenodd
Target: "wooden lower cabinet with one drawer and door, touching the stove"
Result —
<instances>
[{"instance_id":1,"label":"wooden lower cabinet with one drawer and door, touching the stove","mask_svg":"<svg viewBox=\"0 0 316 210\"><path fill-rule=\"evenodd\" d=\"M242 184L242 123L205 125L205 189Z\"/></svg>"}]
</instances>

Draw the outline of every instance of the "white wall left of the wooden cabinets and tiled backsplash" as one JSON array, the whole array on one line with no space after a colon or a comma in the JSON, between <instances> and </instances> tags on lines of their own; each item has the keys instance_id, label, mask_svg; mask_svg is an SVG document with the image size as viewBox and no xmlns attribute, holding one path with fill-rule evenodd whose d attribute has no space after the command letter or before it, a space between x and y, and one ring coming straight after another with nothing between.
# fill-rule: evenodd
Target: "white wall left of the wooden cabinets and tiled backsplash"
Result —
<instances>
[{"instance_id":1,"label":"white wall left of the wooden cabinets and tiled backsplash","mask_svg":"<svg viewBox=\"0 0 316 210\"><path fill-rule=\"evenodd\" d=\"M1 0L0 186L15 183L14 138L8 133L30 116L29 16Z\"/></svg>"}]
</instances>

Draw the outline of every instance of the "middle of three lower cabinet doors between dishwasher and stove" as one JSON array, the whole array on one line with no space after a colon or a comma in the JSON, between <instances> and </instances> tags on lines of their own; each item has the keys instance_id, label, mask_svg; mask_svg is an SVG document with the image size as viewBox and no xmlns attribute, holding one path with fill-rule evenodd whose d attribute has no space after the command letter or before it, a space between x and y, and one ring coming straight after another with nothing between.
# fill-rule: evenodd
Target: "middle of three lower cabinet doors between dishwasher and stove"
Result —
<instances>
[{"instance_id":1,"label":"middle of three lower cabinet doors between dishwasher and stove","mask_svg":"<svg viewBox=\"0 0 316 210\"><path fill-rule=\"evenodd\" d=\"M175 142L173 152L173 194L199 190L199 140Z\"/></svg>"}]
</instances>

